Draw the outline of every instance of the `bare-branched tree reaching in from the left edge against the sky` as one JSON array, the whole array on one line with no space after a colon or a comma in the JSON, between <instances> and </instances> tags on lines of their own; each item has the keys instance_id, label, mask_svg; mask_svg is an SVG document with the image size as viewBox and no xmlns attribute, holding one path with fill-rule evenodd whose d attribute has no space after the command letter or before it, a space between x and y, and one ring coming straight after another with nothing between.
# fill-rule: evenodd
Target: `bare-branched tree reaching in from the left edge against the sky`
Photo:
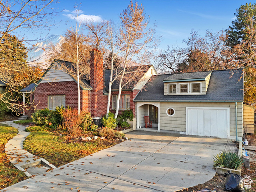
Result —
<instances>
[{"instance_id":1,"label":"bare-branched tree reaching in from the left edge against the sky","mask_svg":"<svg viewBox=\"0 0 256 192\"><path fill-rule=\"evenodd\" d=\"M39 74L31 72L27 60L10 62L11 58L16 57L18 52L15 48L6 49L13 43L6 41L6 39L11 34L15 34L18 42L29 45L33 39L28 38L28 35L26 36L28 32L36 32L37 30L41 32L50 27L49 18L55 15L55 10L51 7L52 3L53 0L0 0L0 50L2 50L1 54L10 57L0 57L0 79L10 88L7 93L0 93L0 100L18 114L21 114L22 110L33 107L30 104L18 102L17 97L13 98L9 93L21 94L16 90L17 86L27 86L33 79L38 79ZM26 53L28 49L26 49Z\"/></svg>"}]
</instances>

